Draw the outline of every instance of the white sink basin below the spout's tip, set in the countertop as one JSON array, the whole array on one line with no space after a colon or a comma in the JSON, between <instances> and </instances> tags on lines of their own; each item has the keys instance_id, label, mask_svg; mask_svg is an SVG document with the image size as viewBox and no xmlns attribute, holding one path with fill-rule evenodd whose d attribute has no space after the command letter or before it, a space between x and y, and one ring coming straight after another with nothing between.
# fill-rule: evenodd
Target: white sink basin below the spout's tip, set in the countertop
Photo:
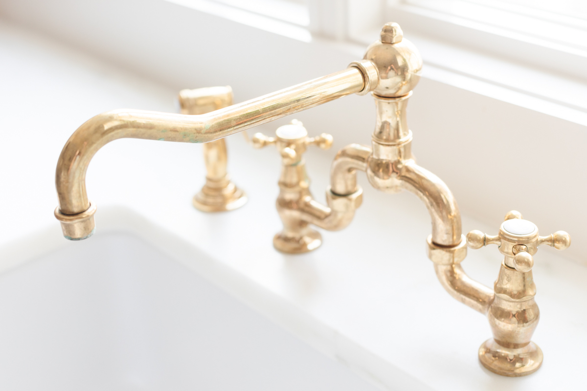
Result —
<instances>
[{"instance_id":1,"label":"white sink basin below the spout's tip, set in the countertop","mask_svg":"<svg viewBox=\"0 0 587 391\"><path fill-rule=\"evenodd\" d=\"M130 233L0 275L2 390L375 390Z\"/></svg>"}]
</instances>

